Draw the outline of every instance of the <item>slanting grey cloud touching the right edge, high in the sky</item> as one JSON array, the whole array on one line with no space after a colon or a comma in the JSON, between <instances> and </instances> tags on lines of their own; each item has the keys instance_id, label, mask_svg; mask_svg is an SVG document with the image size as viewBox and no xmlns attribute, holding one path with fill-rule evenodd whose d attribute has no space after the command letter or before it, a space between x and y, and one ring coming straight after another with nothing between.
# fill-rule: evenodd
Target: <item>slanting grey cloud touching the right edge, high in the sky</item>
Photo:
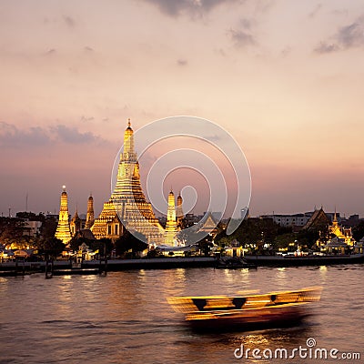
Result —
<instances>
[{"instance_id":1,"label":"slanting grey cloud touching the right edge, high in the sky","mask_svg":"<svg viewBox=\"0 0 364 364\"><path fill-rule=\"evenodd\" d=\"M364 16L361 15L350 25L342 26L329 40L322 41L314 49L315 53L325 54L364 45Z\"/></svg>"}]
</instances>

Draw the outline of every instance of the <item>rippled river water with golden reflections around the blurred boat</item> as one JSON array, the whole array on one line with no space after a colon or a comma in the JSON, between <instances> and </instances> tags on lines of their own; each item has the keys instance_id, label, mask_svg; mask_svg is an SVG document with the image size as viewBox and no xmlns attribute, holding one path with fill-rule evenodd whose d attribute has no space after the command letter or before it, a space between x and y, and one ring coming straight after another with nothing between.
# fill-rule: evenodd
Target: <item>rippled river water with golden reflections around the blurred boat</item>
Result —
<instances>
[{"instance_id":1,"label":"rippled river water with golden reflections around the blurred boat","mask_svg":"<svg viewBox=\"0 0 364 364\"><path fill-rule=\"evenodd\" d=\"M237 359L234 350L240 348L239 354L241 345L245 350L307 348L308 338L316 340L315 348L360 353L361 358L297 355L277 362L364 362L363 274L363 265L350 265L0 278L0 363L263 363L268 359ZM324 289L313 315L287 329L198 333L167 304L171 296L317 285Z\"/></svg>"}]
</instances>

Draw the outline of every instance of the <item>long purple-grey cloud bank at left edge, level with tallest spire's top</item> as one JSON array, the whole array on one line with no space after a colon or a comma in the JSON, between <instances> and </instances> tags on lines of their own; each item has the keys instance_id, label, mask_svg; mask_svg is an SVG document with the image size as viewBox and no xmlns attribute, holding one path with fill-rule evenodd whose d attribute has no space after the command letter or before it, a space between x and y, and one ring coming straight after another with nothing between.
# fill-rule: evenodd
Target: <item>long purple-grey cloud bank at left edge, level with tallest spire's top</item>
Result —
<instances>
[{"instance_id":1,"label":"long purple-grey cloud bank at left edge, level with tallest spire's top","mask_svg":"<svg viewBox=\"0 0 364 364\"><path fill-rule=\"evenodd\" d=\"M91 132L82 133L76 127L57 125L32 126L28 129L0 122L1 147L43 147L62 142L67 144L101 143L104 139Z\"/></svg>"}]
</instances>

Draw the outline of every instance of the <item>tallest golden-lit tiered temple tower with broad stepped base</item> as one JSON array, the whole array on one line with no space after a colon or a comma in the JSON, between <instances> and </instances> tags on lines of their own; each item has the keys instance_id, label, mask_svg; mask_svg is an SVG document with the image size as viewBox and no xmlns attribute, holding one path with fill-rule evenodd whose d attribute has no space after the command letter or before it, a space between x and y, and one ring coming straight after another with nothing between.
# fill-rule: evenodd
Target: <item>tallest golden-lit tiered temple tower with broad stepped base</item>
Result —
<instances>
[{"instance_id":1,"label":"tallest golden-lit tiered temple tower with broad stepped base","mask_svg":"<svg viewBox=\"0 0 364 364\"><path fill-rule=\"evenodd\" d=\"M134 132L130 120L124 133L124 150L120 154L116 186L91 227L95 238L119 238L124 227L147 238L148 244L163 243L165 231L143 193L139 164L134 149Z\"/></svg>"}]
</instances>

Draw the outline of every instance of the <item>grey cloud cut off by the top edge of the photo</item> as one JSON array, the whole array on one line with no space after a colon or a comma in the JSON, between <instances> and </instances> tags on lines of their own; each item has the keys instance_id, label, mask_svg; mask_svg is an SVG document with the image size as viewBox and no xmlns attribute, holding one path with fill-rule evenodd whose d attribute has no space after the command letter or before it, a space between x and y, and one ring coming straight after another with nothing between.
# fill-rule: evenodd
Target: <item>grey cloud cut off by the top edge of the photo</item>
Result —
<instances>
[{"instance_id":1,"label":"grey cloud cut off by the top edge of the photo","mask_svg":"<svg viewBox=\"0 0 364 364\"><path fill-rule=\"evenodd\" d=\"M201 15L211 11L222 4L234 3L237 0L144 0L157 5L159 10L170 16L178 16L184 13Z\"/></svg>"}]
</instances>

